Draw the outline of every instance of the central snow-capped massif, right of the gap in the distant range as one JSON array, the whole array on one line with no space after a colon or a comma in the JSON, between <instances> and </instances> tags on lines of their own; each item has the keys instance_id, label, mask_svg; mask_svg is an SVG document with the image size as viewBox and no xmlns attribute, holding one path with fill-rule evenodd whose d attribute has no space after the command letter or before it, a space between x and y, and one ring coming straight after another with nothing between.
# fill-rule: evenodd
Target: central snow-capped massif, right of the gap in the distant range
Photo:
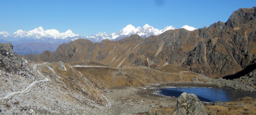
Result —
<instances>
[{"instance_id":1,"label":"central snow-capped massif, right of the gap in the distant range","mask_svg":"<svg viewBox=\"0 0 256 115\"><path fill-rule=\"evenodd\" d=\"M92 36L86 36L86 38L95 39L96 42L100 42L101 40L104 40L104 39L115 41L115 40L122 39L124 37L128 37L133 34L138 34L141 37L148 37L151 35L159 35L167 30L174 30L174 29L176 28L173 26L167 26L163 30L158 30L148 24L145 24L142 28L141 27L135 28L133 25L129 24L126 27L124 27L122 30L119 30L118 32L115 32L115 33L110 33L110 34L107 34L105 32L98 33Z\"/></svg>"}]
</instances>

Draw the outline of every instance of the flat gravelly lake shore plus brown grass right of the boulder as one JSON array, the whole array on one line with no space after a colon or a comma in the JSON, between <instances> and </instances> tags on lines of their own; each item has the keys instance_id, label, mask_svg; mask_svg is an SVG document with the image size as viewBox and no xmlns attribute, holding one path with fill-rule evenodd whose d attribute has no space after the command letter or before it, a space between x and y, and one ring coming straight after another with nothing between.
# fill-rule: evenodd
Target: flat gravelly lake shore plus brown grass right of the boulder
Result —
<instances>
[{"instance_id":1,"label":"flat gravelly lake shore plus brown grass right of the boulder","mask_svg":"<svg viewBox=\"0 0 256 115\"><path fill-rule=\"evenodd\" d=\"M176 97L158 94L158 89L168 87L218 87L215 84L204 82L169 82L150 84L144 87L115 87L105 89L104 95L108 98L109 107L95 108L86 111L88 114L172 114L176 107ZM209 114L255 114L256 99L245 97L236 101L203 103Z\"/></svg>"}]
</instances>

